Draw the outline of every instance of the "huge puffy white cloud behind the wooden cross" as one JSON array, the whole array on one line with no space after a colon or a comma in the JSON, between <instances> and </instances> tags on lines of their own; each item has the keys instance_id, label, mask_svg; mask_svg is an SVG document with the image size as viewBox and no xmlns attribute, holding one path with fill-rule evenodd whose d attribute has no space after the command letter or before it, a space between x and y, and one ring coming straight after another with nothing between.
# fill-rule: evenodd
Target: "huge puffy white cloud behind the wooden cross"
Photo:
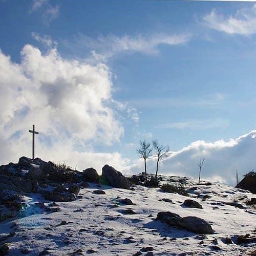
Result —
<instances>
[{"instance_id":1,"label":"huge puffy white cloud behind the wooden cross","mask_svg":"<svg viewBox=\"0 0 256 256\"><path fill-rule=\"evenodd\" d=\"M112 108L109 68L102 63L93 66L63 59L56 48L42 55L26 45L21 55L21 63L14 63L0 52L1 162L31 155L28 129L35 124L37 156L41 158L75 165L79 156L81 165L111 160L122 166L126 160L117 153L98 153L96 158L88 153L93 152L92 144L111 144L123 136Z\"/></svg>"}]
</instances>

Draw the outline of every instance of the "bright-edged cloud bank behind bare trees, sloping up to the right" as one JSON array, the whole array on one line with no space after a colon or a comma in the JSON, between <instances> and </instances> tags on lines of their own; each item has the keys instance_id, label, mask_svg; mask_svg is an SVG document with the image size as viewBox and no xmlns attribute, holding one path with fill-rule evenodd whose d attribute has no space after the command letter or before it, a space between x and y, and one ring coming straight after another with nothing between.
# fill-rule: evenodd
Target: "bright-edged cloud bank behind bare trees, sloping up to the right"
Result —
<instances>
[{"instance_id":1,"label":"bright-edged cloud bank behind bare trees, sloping up to the right","mask_svg":"<svg viewBox=\"0 0 256 256\"><path fill-rule=\"evenodd\" d=\"M236 182L236 169L242 175L250 172L256 166L256 131L252 131L237 139L215 142L195 141L177 152L170 152L169 156L161 162L160 174L184 175L198 178L198 162L205 158L201 178L225 182L234 185ZM156 162L148 161L148 172L155 172ZM126 173L143 171L143 161L138 160L125 168Z\"/></svg>"}]
</instances>

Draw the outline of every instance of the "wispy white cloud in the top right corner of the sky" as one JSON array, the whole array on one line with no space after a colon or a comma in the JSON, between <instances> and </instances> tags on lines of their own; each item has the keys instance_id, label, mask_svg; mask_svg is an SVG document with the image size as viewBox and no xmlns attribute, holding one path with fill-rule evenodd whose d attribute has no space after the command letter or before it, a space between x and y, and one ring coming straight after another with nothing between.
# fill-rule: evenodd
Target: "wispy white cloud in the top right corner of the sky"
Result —
<instances>
[{"instance_id":1,"label":"wispy white cloud in the top right corner of the sky","mask_svg":"<svg viewBox=\"0 0 256 256\"><path fill-rule=\"evenodd\" d=\"M211 29L227 34L251 35L256 33L256 5L239 9L228 16L217 14L214 9L203 20Z\"/></svg>"}]
</instances>

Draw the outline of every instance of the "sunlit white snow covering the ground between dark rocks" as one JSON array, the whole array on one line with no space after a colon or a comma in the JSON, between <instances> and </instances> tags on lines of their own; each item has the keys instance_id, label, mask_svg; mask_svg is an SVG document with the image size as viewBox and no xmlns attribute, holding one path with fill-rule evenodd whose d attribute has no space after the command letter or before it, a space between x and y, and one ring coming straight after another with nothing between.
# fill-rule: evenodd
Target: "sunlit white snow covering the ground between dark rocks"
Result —
<instances>
[{"instance_id":1,"label":"sunlit white snow covering the ground between dark rocks","mask_svg":"<svg viewBox=\"0 0 256 256\"><path fill-rule=\"evenodd\" d=\"M0 240L15 232L5 240L10 248L8 255L248 255L256 249L255 243L223 243L226 237L256 231L255 209L225 204L243 203L253 197L248 191L222 184L195 185L194 193L185 197L138 185L126 190L89 184L80 190L80 199L58 202L57 212L40 209L36 203L52 202L37 194L26 197L27 208L20 218L0 223ZM105 194L94 194L97 189ZM121 204L120 199L125 198L135 205ZM163 198L173 203L162 201ZM183 207L185 199L199 202L203 209ZM136 214L126 214L126 209L133 209ZM156 221L159 211L200 217L211 224L214 234L201 236L169 227Z\"/></svg>"}]
</instances>

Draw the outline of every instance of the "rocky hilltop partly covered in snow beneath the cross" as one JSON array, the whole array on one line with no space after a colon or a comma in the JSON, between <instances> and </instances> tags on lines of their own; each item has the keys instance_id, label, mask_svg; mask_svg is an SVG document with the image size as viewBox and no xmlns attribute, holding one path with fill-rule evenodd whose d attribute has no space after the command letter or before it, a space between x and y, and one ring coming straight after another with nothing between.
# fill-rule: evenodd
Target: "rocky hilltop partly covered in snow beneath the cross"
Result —
<instances>
[{"instance_id":1,"label":"rocky hilltop partly covered in snow beneath the cross","mask_svg":"<svg viewBox=\"0 0 256 256\"><path fill-rule=\"evenodd\" d=\"M93 168L77 172L25 157L0 166L0 255L255 255L249 191L160 175L166 191L176 188L167 193L131 184L141 175L116 174L116 186L128 189L106 185L111 179Z\"/></svg>"}]
</instances>

